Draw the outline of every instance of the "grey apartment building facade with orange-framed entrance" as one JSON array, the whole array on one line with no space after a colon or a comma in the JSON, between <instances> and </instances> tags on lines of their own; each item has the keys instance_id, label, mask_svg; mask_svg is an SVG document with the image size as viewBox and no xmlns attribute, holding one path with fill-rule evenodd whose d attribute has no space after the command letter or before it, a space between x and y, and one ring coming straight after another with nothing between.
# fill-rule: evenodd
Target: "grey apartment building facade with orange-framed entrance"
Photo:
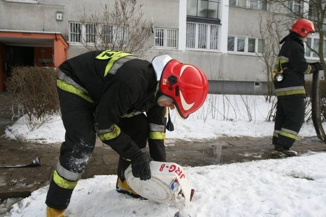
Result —
<instances>
[{"instance_id":1,"label":"grey apartment building facade with orange-framed entrance","mask_svg":"<svg viewBox=\"0 0 326 217\"><path fill-rule=\"evenodd\" d=\"M297 1L293 1L297 2ZM299 1L300 2L300 1ZM58 67L86 52L92 37L80 16L114 0L0 0L0 91L13 66ZM200 67L215 94L264 94L266 72L259 17L264 0L139 0L152 26L143 58L168 53ZM90 38L91 40L91 38ZM90 41L91 42L91 41Z\"/></svg>"}]
</instances>

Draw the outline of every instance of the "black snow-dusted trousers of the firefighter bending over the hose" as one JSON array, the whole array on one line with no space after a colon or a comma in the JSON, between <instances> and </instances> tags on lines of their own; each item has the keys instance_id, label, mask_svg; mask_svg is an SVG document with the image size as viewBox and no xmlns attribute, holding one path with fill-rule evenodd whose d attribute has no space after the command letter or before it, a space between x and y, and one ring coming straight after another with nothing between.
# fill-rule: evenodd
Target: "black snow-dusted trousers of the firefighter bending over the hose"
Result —
<instances>
[{"instance_id":1,"label":"black snow-dusted trousers of the firefighter bending over the hose","mask_svg":"<svg viewBox=\"0 0 326 217\"><path fill-rule=\"evenodd\" d=\"M70 92L58 89L58 94L66 130L65 141L60 149L59 163L66 170L81 176L95 148L95 108L92 103ZM139 148L146 146L149 123L145 114L120 118L117 125L138 144ZM124 178L124 170L128 165L129 163L122 158L119 159L119 177ZM73 189L61 188L52 178L45 203L51 208L66 209L70 203L72 192Z\"/></svg>"}]
</instances>

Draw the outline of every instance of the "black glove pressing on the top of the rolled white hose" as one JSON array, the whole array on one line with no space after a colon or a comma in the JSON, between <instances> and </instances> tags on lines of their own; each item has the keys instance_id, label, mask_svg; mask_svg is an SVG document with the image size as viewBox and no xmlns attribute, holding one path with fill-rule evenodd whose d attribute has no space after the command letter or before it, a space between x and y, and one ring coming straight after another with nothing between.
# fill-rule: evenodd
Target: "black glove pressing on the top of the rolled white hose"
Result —
<instances>
[{"instance_id":1,"label":"black glove pressing on the top of the rolled white hose","mask_svg":"<svg viewBox=\"0 0 326 217\"><path fill-rule=\"evenodd\" d=\"M131 160L131 171L134 177L141 180L147 180L151 178L151 168L149 167L149 157L139 150L133 154Z\"/></svg>"}]
</instances>

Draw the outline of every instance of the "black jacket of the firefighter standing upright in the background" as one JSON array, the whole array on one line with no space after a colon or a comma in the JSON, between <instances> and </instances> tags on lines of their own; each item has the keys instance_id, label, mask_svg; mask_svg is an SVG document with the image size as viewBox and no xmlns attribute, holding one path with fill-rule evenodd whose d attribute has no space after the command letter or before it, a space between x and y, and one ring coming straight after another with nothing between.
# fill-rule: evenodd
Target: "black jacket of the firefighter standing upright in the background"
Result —
<instances>
[{"instance_id":1,"label":"black jacket of the firefighter standing upright in the background","mask_svg":"<svg viewBox=\"0 0 326 217\"><path fill-rule=\"evenodd\" d=\"M305 59L305 49L300 36L290 33L281 40L282 44L275 68L283 69L283 80L274 81L278 98L306 97L304 74L311 73L311 66Z\"/></svg>"}]
</instances>

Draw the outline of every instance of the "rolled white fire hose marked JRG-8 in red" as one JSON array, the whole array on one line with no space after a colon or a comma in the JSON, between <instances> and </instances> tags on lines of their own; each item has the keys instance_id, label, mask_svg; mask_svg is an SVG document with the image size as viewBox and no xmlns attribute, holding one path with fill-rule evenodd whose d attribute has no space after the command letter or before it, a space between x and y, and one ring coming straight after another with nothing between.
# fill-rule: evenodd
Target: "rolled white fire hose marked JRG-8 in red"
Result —
<instances>
[{"instance_id":1,"label":"rolled white fire hose marked JRG-8 in red","mask_svg":"<svg viewBox=\"0 0 326 217\"><path fill-rule=\"evenodd\" d=\"M143 181L132 175L131 165L125 171L129 186L148 200L172 204L180 190L185 198L185 205L190 202L192 187L186 179L182 167L169 162L150 162L151 178Z\"/></svg>"}]
</instances>

